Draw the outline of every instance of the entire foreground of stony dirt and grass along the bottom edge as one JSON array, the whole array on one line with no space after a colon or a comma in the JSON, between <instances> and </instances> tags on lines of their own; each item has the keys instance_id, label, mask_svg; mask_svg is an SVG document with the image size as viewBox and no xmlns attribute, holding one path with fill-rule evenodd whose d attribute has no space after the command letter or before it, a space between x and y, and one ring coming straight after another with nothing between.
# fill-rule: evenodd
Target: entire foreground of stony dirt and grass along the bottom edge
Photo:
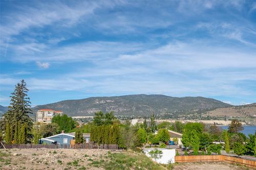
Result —
<instances>
[{"instance_id":1,"label":"entire foreground of stony dirt and grass along the bottom edge","mask_svg":"<svg viewBox=\"0 0 256 170\"><path fill-rule=\"evenodd\" d=\"M133 151L74 149L11 149L0 150L0 169L197 169L245 170L236 164L175 163L159 165L142 153Z\"/></svg>"}]
</instances>

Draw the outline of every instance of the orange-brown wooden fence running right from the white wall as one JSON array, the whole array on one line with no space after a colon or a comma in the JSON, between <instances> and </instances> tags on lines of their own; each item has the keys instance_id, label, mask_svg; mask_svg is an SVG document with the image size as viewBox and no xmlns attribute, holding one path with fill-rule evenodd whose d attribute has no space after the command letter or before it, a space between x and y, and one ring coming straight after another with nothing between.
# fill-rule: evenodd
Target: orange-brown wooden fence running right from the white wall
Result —
<instances>
[{"instance_id":1,"label":"orange-brown wooden fence running right from the white wall","mask_svg":"<svg viewBox=\"0 0 256 170\"><path fill-rule=\"evenodd\" d=\"M175 156L175 162L228 162L238 163L247 167L256 168L256 161L238 158L227 155L188 155L188 156Z\"/></svg>"}]
</instances>

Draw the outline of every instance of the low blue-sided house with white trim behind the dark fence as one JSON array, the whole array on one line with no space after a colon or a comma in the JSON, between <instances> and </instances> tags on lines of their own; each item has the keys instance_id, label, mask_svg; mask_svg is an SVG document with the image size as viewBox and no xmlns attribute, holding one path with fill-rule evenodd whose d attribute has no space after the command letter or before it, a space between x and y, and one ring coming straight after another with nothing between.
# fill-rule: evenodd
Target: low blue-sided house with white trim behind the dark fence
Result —
<instances>
[{"instance_id":1,"label":"low blue-sided house with white trim behind the dark fence","mask_svg":"<svg viewBox=\"0 0 256 170\"><path fill-rule=\"evenodd\" d=\"M90 142L90 133L83 133L83 138L86 143ZM60 133L57 135L49 136L39 139L39 144L71 144L71 141L75 139L75 132L72 133Z\"/></svg>"}]
</instances>

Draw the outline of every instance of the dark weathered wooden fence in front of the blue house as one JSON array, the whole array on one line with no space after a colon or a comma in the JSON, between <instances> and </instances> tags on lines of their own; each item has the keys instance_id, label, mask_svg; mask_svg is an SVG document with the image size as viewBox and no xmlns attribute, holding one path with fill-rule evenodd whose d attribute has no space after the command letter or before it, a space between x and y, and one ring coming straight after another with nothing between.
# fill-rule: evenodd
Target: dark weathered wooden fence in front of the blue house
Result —
<instances>
[{"instance_id":1,"label":"dark weathered wooden fence in front of the blue house","mask_svg":"<svg viewBox=\"0 0 256 170\"><path fill-rule=\"evenodd\" d=\"M4 144L6 149L105 149L105 150L118 150L117 144ZM1 147L0 147L1 149ZM2 147L3 149L3 147Z\"/></svg>"}]
</instances>

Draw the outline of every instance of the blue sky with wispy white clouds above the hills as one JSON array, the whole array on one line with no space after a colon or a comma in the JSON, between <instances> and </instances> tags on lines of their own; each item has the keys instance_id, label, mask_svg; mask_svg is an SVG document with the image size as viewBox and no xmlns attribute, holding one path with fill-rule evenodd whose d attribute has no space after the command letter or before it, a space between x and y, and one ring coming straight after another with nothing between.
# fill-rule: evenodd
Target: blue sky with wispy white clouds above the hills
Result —
<instances>
[{"instance_id":1,"label":"blue sky with wispy white clouds above the hills","mask_svg":"<svg viewBox=\"0 0 256 170\"><path fill-rule=\"evenodd\" d=\"M256 1L1 1L0 104L90 96L256 102Z\"/></svg>"}]
</instances>

